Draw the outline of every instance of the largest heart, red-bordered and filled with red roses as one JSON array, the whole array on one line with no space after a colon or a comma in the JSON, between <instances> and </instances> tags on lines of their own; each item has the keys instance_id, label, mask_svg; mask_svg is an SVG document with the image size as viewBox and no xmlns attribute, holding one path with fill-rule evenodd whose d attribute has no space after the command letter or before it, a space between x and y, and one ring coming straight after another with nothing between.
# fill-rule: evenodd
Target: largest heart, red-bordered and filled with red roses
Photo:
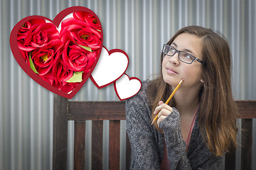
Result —
<instances>
[{"instance_id":1,"label":"largest heart, red-bordered and filled with red roses","mask_svg":"<svg viewBox=\"0 0 256 170\"><path fill-rule=\"evenodd\" d=\"M77 13L76 17L67 17L69 21L65 18L74 13ZM34 24L37 27L32 24L35 28L31 26L25 35L20 29L25 27L27 21L36 21ZM56 30L60 23L63 28L59 34ZM17 39L20 39L19 42ZM102 42L99 18L89 8L82 6L66 8L53 21L43 16L23 18L14 26L10 35L11 51L24 72L44 88L65 98L73 98L90 77L99 60ZM36 70L31 69L32 65L36 66ZM66 82L78 72L83 72L82 81Z\"/></svg>"}]
</instances>

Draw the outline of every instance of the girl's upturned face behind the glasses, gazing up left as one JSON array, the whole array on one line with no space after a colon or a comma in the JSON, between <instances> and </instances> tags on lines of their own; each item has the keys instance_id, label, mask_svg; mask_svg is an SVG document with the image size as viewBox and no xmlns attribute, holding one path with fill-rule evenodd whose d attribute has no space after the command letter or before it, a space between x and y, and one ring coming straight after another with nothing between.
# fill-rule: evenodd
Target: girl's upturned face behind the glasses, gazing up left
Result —
<instances>
[{"instance_id":1,"label":"girl's upturned face behind the glasses, gazing up left","mask_svg":"<svg viewBox=\"0 0 256 170\"><path fill-rule=\"evenodd\" d=\"M178 35L171 47L176 50L187 52L188 54L202 60L203 40L190 33ZM175 87L181 79L184 79L183 87L193 88L201 86L202 64L194 60L191 64L186 64L178 60L178 52L174 56L165 55L162 61L162 74L167 84Z\"/></svg>"}]
</instances>

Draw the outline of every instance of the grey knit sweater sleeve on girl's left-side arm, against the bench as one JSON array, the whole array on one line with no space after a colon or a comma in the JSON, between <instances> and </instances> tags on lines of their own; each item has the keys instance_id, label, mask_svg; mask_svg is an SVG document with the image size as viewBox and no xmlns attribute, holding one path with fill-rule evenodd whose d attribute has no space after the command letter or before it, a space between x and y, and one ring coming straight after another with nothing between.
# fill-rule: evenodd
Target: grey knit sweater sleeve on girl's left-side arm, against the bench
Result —
<instances>
[{"instance_id":1,"label":"grey knit sweater sleeve on girl's left-side arm, against the bench","mask_svg":"<svg viewBox=\"0 0 256 170\"><path fill-rule=\"evenodd\" d=\"M132 148L131 169L160 169L159 151L149 112L140 94L126 101L127 134Z\"/></svg>"}]
</instances>

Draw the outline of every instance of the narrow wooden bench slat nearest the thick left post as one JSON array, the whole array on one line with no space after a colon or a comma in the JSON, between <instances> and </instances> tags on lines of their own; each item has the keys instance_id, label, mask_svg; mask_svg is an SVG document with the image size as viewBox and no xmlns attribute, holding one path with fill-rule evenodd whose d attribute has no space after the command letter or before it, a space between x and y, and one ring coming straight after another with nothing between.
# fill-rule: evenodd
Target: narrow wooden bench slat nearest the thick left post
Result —
<instances>
[{"instance_id":1,"label":"narrow wooden bench slat nearest the thick left post","mask_svg":"<svg viewBox=\"0 0 256 170\"><path fill-rule=\"evenodd\" d=\"M85 169L85 121L75 121L74 169Z\"/></svg>"}]
</instances>

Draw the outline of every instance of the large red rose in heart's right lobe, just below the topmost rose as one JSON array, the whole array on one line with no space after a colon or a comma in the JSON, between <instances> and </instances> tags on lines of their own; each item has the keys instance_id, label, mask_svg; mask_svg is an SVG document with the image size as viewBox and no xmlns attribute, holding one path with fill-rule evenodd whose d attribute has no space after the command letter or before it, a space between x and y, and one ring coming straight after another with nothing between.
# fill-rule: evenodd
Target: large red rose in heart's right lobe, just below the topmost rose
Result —
<instances>
[{"instance_id":1,"label":"large red rose in heart's right lobe, just below the topmost rose","mask_svg":"<svg viewBox=\"0 0 256 170\"><path fill-rule=\"evenodd\" d=\"M64 34L70 34L73 42L90 47L92 50L99 49L102 43L101 35L97 30L75 18L68 18L62 22L60 37L63 37Z\"/></svg>"}]
</instances>

